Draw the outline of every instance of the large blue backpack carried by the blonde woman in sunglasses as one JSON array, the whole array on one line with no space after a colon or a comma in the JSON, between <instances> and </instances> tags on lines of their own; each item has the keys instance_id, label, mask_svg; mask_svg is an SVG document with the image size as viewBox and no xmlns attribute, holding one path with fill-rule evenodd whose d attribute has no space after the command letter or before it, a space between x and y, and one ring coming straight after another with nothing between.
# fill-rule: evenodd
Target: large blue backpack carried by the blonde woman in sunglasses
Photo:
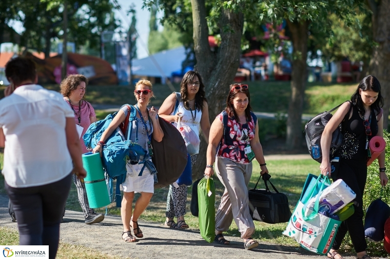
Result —
<instances>
[{"instance_id":1,"label":"large blue backpack carried by the blonde woman in sunglasses","mask_svg":"<svg viewBox=\"0 0 390 259\"><path fill-rule=\"evenodd\" d=\"M127 161L130 161L130 164L144 164L139 175L142 175L143 169L145 167L145 160L150 159L147 151L142 148L137 143L129 140L132 132L132 122L137 116L137 110L132 106L126 104L128 107L127 117L124 122L117 127L116 130L111 134L110 137L106 140L105 145L103 146L102 154L102 164L107 172L110 185L111 197L113 194L112 180L117 179L117 187L115 193L115 200L117 201L117 207L120 207L121 195L120 187L126 180L126 164ZM122 106L123 107L123 106ZM108 114L105 119L97 121L91 124L85 134L83 135L83 140L87 148L95 148L103 134L104 130L108 128L110 123L117 112L113 114ZM127 139L125 139L123 132L126 132L127 127L130 125ZM138 133L138 132L137 132Z\"/></svg>"}]
</instances>

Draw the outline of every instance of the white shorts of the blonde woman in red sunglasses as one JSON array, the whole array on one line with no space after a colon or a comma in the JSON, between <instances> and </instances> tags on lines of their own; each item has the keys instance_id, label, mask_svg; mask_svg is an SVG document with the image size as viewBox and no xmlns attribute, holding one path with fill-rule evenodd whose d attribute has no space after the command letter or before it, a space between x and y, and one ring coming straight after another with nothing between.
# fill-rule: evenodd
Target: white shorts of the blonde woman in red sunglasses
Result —
<instances>
[{"instance_id":1,"label":"white shorts of the blonde woman in red sunglasses","mask_svg":"<svg viewBox=\"0 0 390 259\"><path fill-rule=\"evenodd\" d=\"M126 180L122 183L124 192L155 192L155 180L148 167L145 166L142 175L138 176L142 166L144 165L126 165Z\"/></svg>"}]
</instances>

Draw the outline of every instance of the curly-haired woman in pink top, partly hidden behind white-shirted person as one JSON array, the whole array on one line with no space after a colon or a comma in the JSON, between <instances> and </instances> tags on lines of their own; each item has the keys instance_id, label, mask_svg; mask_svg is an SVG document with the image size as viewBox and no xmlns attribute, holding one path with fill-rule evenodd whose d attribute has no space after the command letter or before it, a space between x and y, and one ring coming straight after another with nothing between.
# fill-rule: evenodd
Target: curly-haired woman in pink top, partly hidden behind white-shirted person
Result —
<instances>
[{"instance_id":1,"label":"curly-haired woman in pink top, partly hidden behind white-shirted person","mask_svg":"<svg viewBox=\"0 0 390 259\"><path fill-rule=\"evenodd\" d=\"M60 84L61 93L64 100L72 108L75 115L76 128L80 131L80 145L82 153L87 153L82 136L91 123L97 121L95 110L92 105L84 100L87 90L88 79L82 74L70 74ZM104 220L104 214L96 214L94 209L89 207L87 191L84 181L80 181L76 175L73 175L73 182L77 188L78 202L84 213L85 224L98 223Z\"/></svg>"}]
</instances>

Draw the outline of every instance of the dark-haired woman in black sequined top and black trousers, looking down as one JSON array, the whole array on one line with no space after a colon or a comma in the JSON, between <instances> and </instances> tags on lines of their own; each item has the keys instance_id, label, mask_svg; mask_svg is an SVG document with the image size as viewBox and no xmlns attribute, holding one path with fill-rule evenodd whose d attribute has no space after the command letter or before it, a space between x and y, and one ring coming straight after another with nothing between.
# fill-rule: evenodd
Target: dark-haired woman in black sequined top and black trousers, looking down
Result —
<instances>
[{"instance_id":1,"label":"dark-haired woman in black sequined top and black trousers, looking down","mask_svg":"<svg viewBox=\"0 0 390 259\"><path fill-rule=\"evenodd\" d=\"M363 193L367 180L367 159L370 155L369 141L374 136L383 136L383 116L378 116L381 113L382 106L381 85L375 76L368 75L363 78L356 92L351 96L351 103L345 102L340 106L322 133L321 150L323 159L320 166L321 173L331 176L333 181L343 179L356 193L354 200L355 212L350 218L341 223L332 248L328 253L329 258L342 258L337 251L348 231L357 257L359 259L370 259L366 252L367 242L363 227ZM348 111L350 111L349 114ZM340 123L342 123L344 129L344 139L341 148L335 155L339 157L339 169L337 173L331 173L329 158L331 135ZM379 155L378 161L380 167L379 178L383 186L388 182L385 151Z\"/></svg>"}]
</instances>

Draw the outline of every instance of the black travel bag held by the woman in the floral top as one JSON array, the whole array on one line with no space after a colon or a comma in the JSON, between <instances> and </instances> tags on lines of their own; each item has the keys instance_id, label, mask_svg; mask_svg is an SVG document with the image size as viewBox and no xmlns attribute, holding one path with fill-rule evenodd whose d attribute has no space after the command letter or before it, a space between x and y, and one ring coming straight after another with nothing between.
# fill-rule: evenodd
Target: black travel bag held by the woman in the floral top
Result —
<instances>
[{"instance_id":1,"label":"black travel bag held by the woman in the floral top","mask_svg":"<svg viewBox=\"0 0 390 259\"><path fill-rule=\"evenodd\" d=\"M266 189L256 189L260 178L264 180ZM270 224L288 222L291 217L289 200L284 193L278 192L270 182L271 175L263 174L259 177L254 189L248 191L249 210L254 221L261 221ZM268 188L267 181L276 193Z\"/></svg>"}]
</instances>

